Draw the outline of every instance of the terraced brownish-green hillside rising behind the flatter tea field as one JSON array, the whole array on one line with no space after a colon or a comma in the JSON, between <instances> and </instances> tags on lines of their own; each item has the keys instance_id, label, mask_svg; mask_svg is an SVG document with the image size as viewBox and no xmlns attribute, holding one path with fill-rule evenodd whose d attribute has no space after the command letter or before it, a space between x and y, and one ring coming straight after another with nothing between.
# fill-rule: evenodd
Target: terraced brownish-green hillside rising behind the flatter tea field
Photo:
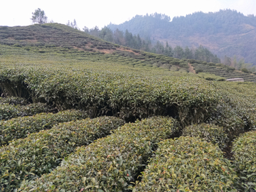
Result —
<instances>
[{"instance_id":1,"label":"terraced brownish-green hillside rising behind the flatter tea field","mask_svg":"<svg viewBox=\"0 0 256 192\"><path fill-rule=\"evenodd\" d=\"M0 27L1 67L4 66L4 60L9 60L10 54L14 55L13 57L18 61L16 64L20 63L20 60L24 60L18 56L21 53L27 56L31 55L26 57L26 63L28 60L35 60L33 57L41 57L43 62L48 62L46 60L49 58L60 56L66 59L75 58L77 60L80 58L80 60L92 60L93 62L107 59L131 68L144 68L145 70L159 68L183 73L192 72L193 69L189 68L189 63L193 63L193 67L198 72L213 73L224 78L244 78L245 81L256 82L256 75L241 71L241 73L235 73L234 68L199 60L180 60L119 46L58 23ZM37 55L34 55L35 53ZM203 65L196 65L196 63ZM215 70L206 68L205 65L217 68L218 74L215 73Z\"/></svg>"}]
</instances>

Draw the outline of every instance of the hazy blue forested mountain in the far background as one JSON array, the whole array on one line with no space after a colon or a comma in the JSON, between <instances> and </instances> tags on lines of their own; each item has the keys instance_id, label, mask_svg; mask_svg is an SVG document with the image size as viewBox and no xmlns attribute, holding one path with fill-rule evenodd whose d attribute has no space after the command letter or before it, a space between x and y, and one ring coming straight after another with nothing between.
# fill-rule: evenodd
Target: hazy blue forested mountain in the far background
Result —
<instances>
[{"instance_id":1,"label":"hazy blue forested mountain in the far background","mask_svg":"<svg viewBox=\"0 0 256 192\"><path fill-rule=\"evenodd\" d=\"M238 11L196 12L174 17L163 14L135 16L120 25L107 26L115 31L126 29L142 38L168 41L171 46L204 46L218 57L237 56L246 63L256 64L256 16L244 16Z\"/></svg>"}]
</instances>

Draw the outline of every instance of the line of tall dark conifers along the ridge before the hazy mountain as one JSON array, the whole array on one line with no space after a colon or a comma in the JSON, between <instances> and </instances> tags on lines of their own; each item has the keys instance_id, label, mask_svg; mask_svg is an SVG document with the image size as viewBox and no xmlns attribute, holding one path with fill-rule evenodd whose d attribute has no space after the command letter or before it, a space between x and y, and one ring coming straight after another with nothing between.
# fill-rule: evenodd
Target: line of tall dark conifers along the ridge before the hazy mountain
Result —
<instances>
[{"instance_id":1,"label":"line of tall dark conifers along the ridge before the hazy mountain","mask_svg":"<svg viewBox=\"0 0 256 192\"><path fill-rule=\"evenodd\" d=\"M220 59L217 57L217 55L214 55L210 52L210 50L204 48L203 46L199 46L198 48L188 48L188 46L186 46L184 49L181 46L172 48L169 46L168 42L166 42L166 45L160 41L152 43L150 38L141 38L139 34L133 35L128 30L123 32L118 28L113 32L107 26L101 30L97 26L90 29L85 26L83 31L97 38L101 38L104 41L116 43L121 46L127 46L129 48L162 54L178 59L196 59L204 60L206 62L220 63Z\"/></svg>"}]
</instances>

